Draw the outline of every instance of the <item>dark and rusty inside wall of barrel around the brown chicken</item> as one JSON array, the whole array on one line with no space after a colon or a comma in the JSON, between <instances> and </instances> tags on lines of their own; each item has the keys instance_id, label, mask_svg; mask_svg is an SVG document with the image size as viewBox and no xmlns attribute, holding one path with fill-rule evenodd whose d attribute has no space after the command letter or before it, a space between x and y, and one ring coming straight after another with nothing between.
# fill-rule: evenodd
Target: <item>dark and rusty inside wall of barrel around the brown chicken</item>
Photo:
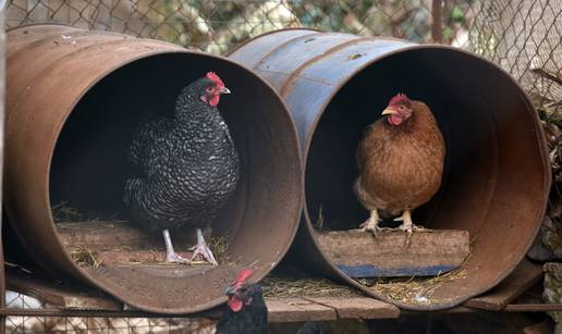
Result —
<instances>
[{"instance_id":1,"label":"dark and rusty inside wall of barrel around the brown chicken","mask_svg":"<svg viewBox=\"0 0 562 334\"><path fill-rule=\"evenodd\" d=\"M305 172L313 226L320 211L326 230L356 228L367 219L353 194L355 152L364 128L398 92L430 107L447 146L442 186L414 211L414 223L471 233L467 279L433 294L454 304L482 293L481 282L502 280L538 231L549 180L540 125L514 81L474 55L440 48L387 55L358 71L317 119Z\"/></svg>"}]
</instances>

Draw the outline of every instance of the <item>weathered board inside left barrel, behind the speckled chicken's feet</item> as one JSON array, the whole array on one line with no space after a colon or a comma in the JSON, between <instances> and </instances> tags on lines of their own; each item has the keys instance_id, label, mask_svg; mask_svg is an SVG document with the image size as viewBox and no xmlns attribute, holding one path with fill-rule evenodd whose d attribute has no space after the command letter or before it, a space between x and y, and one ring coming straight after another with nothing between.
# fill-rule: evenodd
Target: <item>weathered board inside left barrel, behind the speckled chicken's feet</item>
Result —
<instances>
[{"instance_id":1,"label":"weathered board inside left barrel, behind the speckled chicken's feet","mask_svg":"<svg viewBox=\"0 0 562 334\"><path fill-rule=\"evenodd\" d=\"M57 232L66 247L87 247L95 250L106 249L163 249L160 233L148 233L136 224L126 221L87 221L57 223ZM205 238L210 237L211 230L205 228ZM181 231L172 234L174 248L186 249L196 244L194 231Z\"/></svg>"}]
</instances>

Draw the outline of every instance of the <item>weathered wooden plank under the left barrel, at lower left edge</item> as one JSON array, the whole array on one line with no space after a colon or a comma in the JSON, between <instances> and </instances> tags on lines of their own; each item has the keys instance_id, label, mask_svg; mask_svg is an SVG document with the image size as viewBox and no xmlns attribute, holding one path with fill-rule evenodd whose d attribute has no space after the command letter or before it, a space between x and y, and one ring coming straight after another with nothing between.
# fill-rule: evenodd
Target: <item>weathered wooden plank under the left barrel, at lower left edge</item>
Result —
<instances>
[{"instance_id":1,"label":"weathered wooden plank under the left barrel, at lower left edge","mask_svg":"<svg viewBox=\"0 0 562 334\"><path fill-rule=\"evenodd\" d=\"M100 292L61 286L54 282L37 280L12 270L7 271L7 285L11 290L64 309L110 311L123 309L120 301Z\"/></svg>"}]
</instances>

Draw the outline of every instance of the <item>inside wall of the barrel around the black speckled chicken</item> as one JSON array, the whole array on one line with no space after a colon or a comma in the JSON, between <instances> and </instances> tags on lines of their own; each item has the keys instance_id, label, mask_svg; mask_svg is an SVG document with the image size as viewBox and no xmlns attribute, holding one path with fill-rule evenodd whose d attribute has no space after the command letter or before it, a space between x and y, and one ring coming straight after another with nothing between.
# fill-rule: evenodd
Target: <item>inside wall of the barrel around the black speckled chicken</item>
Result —
<instances>
[{"instance_id":1,"label":"inside wall of the barrel around the black speckled chicken","mask_svg":"<svg viewBox=\"0 0 562 334\"><path fill-rule=\"evenodd\" d=\"M52 157L50 202L65 201L83 211L85 219L126 220L123 186L135 173L127 160L134 129L155 114L171 116L180 90L207 71L219 74L232 91L221 97L219 109L242 161L236 191L212 222L212 235L228 238L233 263L224 264L228 269L221 269L222 264L217 269L178 265L173 276L191 279L192 288L217 297L224 283L206 286L212 272L252 265L257 275L265 275L286 251L298 217L296 135L273 90L248 72L205 55L169 53L136 60L109 73L80 99L64 123ZM160 235L152 243L154 249L164 250ZM187 250L186 246L175 249ZM86 271L96 275L95 270ZM170 279L168 268L135 271L155 280ZM204 272L210 276L205 279ZM150 284L157 288L157 281Z\"/></svg>"}]
</instances>

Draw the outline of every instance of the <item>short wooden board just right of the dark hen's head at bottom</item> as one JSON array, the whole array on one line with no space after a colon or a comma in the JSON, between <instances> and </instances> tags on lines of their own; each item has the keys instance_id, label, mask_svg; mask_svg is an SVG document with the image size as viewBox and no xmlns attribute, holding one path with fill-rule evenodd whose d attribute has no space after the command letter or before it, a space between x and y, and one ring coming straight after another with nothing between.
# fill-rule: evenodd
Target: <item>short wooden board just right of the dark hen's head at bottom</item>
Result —
<instances>
[{"instance_id":1,"label":"short wooden board just right of the dark hen's head at bottom","mask_svg":"<svg viewBox=\"0 0 562 334\"><path fill-rule=\"evenodd\" d=\"M330 321L335 311L303 298L266 299L269 322Z\"/></svg>"}]
</instances>

